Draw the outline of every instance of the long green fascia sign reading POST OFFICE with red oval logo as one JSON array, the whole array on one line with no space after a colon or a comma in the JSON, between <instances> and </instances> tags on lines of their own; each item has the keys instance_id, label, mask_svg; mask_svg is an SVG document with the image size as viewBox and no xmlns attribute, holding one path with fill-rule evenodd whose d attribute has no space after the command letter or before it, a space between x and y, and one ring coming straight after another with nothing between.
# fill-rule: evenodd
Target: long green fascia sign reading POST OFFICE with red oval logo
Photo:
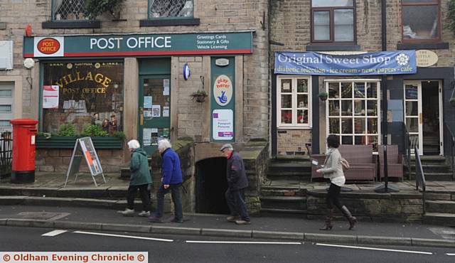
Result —
<instances>
[{"instance_id":1,"label":"long green fascia sign reading POST OFFICE with red oval logo","mask_svg":"<svg viewBox=\"0 0 455 263\"><path fill-rule=\"evenodd\" d=\"M252 32L24 37L25 58L252 53Z\"/></svg>"}]
</instances>

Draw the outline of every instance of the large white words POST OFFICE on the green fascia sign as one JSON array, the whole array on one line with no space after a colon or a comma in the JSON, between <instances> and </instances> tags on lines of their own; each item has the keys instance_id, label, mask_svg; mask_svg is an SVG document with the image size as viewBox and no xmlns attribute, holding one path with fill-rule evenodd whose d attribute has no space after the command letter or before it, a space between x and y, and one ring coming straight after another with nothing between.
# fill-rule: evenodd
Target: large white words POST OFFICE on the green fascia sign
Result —
<instances>
[{"instance_id":1,"label":"large white words POST OFFICE on the green fascia sign","mask_svg":"<svg viewBox=\"0 0 455 263\"><path fill-rule=\"evenodd\" d=\"M90 38L90 49L120 49L123 38ZM171 48L171 36L139 36L127 39L128 48Z\"/></svg>"}]
</instances>

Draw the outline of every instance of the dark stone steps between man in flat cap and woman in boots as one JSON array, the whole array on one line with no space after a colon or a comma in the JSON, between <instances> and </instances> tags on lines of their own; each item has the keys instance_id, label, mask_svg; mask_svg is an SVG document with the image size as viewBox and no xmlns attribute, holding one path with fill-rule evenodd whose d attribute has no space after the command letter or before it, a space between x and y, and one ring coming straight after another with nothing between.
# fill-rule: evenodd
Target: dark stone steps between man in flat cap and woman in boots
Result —
<instances>
[{"instance_id":1,"label":"dark stone steps between man in flat cap and woman in boots","mask_svg":"<svg viewBox=\"0 0 455 263\"><path fill-rule=\"evenodd\" d=\"M261 188L261 212L306 213L306 191L300 182L311 177L311 162L303 156L277 156L269 160L268 181L279 181L284 186L264 185Z\"/></svg>"}]
</instances>

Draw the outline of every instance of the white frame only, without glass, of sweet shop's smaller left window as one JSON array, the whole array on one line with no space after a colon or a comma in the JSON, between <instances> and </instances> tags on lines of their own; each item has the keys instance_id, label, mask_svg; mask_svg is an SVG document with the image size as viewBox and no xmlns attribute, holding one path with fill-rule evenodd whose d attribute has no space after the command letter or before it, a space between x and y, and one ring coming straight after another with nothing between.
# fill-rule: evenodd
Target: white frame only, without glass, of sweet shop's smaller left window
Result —
<instances>
[{"instance_id":1,"label":"white frame only, without glass, of sweet shop's smaller left window","mask_svg":"<svg viewBox=\"0 0 455 263\"><path fill-rule=\"evenodd\" d=\"M292 94L292 123L291 124L282 124L282 80L283 79L291 79L291 93ZM305 79L308 82L308 92L299 92L297 93L297 80L298 79ZM299 108L297 107L297 95L298 94L308 94L308 107L307 108ZM297 110L298 109L307 109L308 110L308 123L307 124L299 124L297 123ZM285 128L285 129L311 129L313 127L312 119L312 102L311 102L311 76L308 75L280 75L277 77L277 128Z\"/></svg>"}]
</instances>

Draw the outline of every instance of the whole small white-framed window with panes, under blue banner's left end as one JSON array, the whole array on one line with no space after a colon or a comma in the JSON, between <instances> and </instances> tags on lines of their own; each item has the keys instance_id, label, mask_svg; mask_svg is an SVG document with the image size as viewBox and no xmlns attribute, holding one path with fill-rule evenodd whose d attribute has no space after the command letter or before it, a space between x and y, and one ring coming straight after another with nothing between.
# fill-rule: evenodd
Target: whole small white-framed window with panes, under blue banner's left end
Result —
<instances>
[{"instance_id":1,"label":"whole small white-framed window with panes, under blue banner's left end","mask_svg":"<svg viewBox=\"0 0 455 263\"><path fill-rule=\"evenodd\" d=\"M278 77L278 127L311 127L310 80L309 77Z\"/></svg>"}]
</instances>

